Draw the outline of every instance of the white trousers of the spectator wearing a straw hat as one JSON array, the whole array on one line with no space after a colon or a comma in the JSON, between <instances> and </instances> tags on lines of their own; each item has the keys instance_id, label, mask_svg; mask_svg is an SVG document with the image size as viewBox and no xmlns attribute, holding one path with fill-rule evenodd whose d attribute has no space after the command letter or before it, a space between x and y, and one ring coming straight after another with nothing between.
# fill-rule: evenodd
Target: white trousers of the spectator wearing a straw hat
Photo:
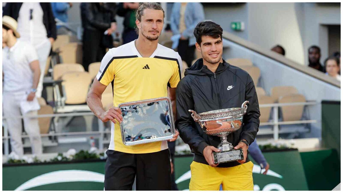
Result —
<instances>
[{"instance_id":1,"label":"white trousers of the spectator wearing a straw hat","mask_svg":"<svg viewBox=\"0 0 343 193\"><path fill-rule=\"evenodd\" d=\"M24 149L22 143L22 120L17 118L22 116L20 110L20 102L26 96L25 92L13 93L4 92L3 93L3 114L6 119L7 129L11 135L11 148L17 155L23 156ZM25 115L37 115L37 111L29 111ZM42 140L40 138L39 124L37 118L24 118L25 132L28 134L31 142L32 154L38 155L42 154Z\"/></svg>"}]
</instances>

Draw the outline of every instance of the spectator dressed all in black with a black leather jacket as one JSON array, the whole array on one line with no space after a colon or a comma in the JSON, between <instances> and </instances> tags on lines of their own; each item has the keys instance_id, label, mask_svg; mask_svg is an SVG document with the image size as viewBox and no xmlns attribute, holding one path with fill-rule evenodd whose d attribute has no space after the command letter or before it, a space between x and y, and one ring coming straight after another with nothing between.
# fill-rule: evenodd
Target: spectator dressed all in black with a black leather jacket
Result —
<instances>
[{"instance_id":1,"label":"spectator dressed all in black with a black leather jacket","mask_svg":"<svg viewBox=\"0 0 343 193\"><path fill-rule=\"evenodd\" d=\"M106 48L113 47L111 36L117 30L116 3L81 3L83 27L82 66L99 62L106 54Z\"/></svg>"}]
</instances>

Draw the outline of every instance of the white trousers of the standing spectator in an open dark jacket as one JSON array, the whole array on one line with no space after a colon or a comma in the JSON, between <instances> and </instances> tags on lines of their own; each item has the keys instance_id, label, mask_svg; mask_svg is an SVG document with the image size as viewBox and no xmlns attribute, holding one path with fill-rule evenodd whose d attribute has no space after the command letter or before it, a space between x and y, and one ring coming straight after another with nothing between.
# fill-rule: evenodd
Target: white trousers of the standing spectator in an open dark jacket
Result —
<instances>
[{"instance_id":1,"label":"white trousers of the standing spectator in an open dark jacket","mask_svg":"<svg viewBox=\"0 0 343 193\"><path fill-rule=\"evenodd\" d=\"M44 78L44 72L45 72L45 67L46 67L46 60L49 57L50 49L51 49L51 43L49 39L46 39L44 43L36 47L36 52L38 55L39 67L40 67L40 77L39 77L39 82L38 82L37 92L36 92L36 96L38 98L42 97L43 78Z\"/></svg>"}]
</instances>

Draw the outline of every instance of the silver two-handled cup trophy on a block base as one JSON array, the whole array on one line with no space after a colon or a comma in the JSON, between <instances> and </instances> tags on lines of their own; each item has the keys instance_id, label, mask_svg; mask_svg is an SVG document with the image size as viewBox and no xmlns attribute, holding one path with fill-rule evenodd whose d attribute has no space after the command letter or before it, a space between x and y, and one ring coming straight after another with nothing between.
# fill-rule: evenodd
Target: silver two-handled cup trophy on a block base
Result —
<instances>
[{"instance_id":1,"label":"silver two-handled cup trophy on a block base","mask_svg":"<svg viewBox=\"0 0 343 193\"><path fill-rule=\"evenodd\" d=\"M221 137L221 143L217 147L221 151L212 152L215 164L244 159L243 149L234 149L234 146L227 142L226 138L228 134L241 128L248 102L245 101L240 108L220 109L199 114L188 110L192 113L194 121L200 124L203 132L207 135Z\"/></svg>"}]
</instances>

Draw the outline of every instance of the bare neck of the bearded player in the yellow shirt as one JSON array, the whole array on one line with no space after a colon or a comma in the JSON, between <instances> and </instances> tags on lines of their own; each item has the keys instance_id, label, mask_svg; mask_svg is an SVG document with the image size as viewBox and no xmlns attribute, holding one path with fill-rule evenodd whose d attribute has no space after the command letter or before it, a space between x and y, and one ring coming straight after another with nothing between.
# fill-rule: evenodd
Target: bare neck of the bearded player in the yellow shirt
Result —
<instances>
[{"instance_id":1,"label":"bare neck of the bearded player in the yellow shirt","mask_svg":"<svg viewBox=\"0 0 343 193\"><path fill-rule=\"evenodd\" d=\"M158 40L151 41L140 35L136 40L136 48L144 58L149 58L156 50Z\"/></svg>"}]
</instances>

